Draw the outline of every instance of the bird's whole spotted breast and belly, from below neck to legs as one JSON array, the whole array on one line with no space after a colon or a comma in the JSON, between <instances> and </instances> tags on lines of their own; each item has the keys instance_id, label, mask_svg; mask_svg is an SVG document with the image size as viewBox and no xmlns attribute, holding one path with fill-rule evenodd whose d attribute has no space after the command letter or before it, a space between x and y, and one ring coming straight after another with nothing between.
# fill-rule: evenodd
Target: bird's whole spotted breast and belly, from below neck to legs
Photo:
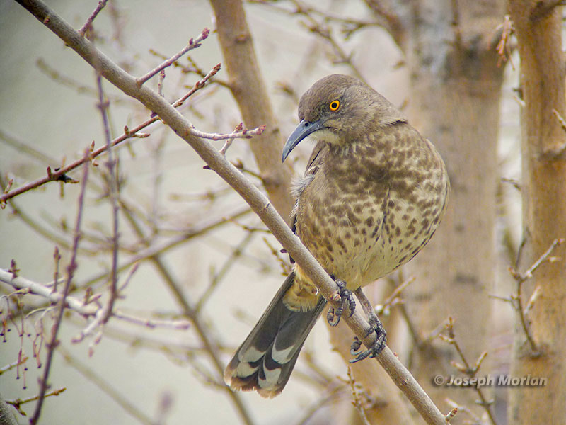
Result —
<instances>
[{"instance_id":1,"label":"bird's whole spotted breast and belly, from below neck to legs","mask_svg":"<svg viewBox=\"0 0 566 425\"><path fill-rule=\"evenodd\" d=\"M339 165L321 169L302 191L296 232L328 273L355 289L422 249L444 213L448 183L441 163L417 174Z\"/></svg>"}]
</instances>

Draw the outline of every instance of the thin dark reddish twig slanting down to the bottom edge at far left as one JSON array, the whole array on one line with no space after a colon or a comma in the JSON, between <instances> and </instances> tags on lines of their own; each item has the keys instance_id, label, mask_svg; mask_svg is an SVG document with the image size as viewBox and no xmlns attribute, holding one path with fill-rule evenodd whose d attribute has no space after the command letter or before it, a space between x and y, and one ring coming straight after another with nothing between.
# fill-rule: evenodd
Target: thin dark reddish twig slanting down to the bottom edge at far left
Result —
<instances>
[{"instance_id":1,"label":"thin dark reddish twig slanting down to the bottom edge at far left","mask_svg":"<svg viewBox=\"0 0 566 425\"><path fill-rule=\"evenodd\" d=\"M85 157L88 157L88 154L89 152L87 150L85 152ZM43 370L43 378L40 378L39 397L37 398L37 404L35 405L35 412L33 412L33 416L30 419L30 424L37 424L37 421L39 421L40 419L43 400L45 399L45 393L47 392L47 388L49 387L47 379L49 378L49 373L51 370L53 353L55 351L55 348L57 348L57 345L59 344L57 341L57 333L59 332L59 327L61 326L61 322L63 319L63 312L65 310L65 304L66 304L65 300L67 296L69 296L69 290L71 289L71 282L73 280L73 276L77 268L76 255L79 248L79 241L81 240L81 220L83 216L86 181L88 179L88 168L89 168L88 164L85 164L85 166L83 167L83 179L81 182L81 193L79 194L79 201L78 201L79 206L76 213L76 224L74 229L73 249L71 251L71 261L69 262L69 266L67 266L67 280L65 281L63 294L61 300L59 301L59 311L57 312L57 317L55 319L55 322L51 330L51 338L50 341L45 344L47 347L45 369Z\"/></svg>"}]
</instances>

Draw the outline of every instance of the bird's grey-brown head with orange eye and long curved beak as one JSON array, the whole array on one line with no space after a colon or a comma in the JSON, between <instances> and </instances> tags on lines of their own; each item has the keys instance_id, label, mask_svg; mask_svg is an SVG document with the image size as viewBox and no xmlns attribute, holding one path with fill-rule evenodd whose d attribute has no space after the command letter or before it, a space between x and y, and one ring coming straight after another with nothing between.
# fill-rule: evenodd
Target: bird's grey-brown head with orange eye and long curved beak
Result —
<instances>
[{"instance_id":1,"label":"bird's grey-brown head with orange eye and long curved beak","mask_svg":"<svg viewBox=\"0 0 566 425\"><path fill-rule=\"evenodd\" d=\"M381 94L359 79L341 74L324 77L305 92L299 101L299 119L285 143L282 161L307 136L345 146L380 125L405 120Z\"/></svg>"}]
</instances>

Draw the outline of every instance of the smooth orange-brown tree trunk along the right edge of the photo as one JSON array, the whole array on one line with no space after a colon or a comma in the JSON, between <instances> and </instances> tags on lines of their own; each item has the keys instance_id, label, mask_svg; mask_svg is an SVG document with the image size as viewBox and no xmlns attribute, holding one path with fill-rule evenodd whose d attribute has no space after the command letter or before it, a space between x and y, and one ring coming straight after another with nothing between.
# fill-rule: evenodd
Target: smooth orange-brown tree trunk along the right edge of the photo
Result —
<instances>
[{"instance_id":1,"label":"smooth orange-brown tree trunk along the right edge of the photo","mask_svg":"<svg viewBox=\"0 0 566 425\"><path fill-rule=\"evenodd\" d=\"M562 9L558 1L510 0L521 57L523 239L518 269L525 271L552 244L566 237L565 132L553 110L565 115ZM543 263L523 285L522 305L538 296L527 314L535 350L516 315L513 377L548 378L543 387L509 391L509 424L555 424L566 418L566 246L560 261ZM536 353L538 351L538 353Z\"/></svg>"}]
</instances>

